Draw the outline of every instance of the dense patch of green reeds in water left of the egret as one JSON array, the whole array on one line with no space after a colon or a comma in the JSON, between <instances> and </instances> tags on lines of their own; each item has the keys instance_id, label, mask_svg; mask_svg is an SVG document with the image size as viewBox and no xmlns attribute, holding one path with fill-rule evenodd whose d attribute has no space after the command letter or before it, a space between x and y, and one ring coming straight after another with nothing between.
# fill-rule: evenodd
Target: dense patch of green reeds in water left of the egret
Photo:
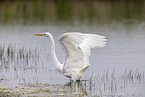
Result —
<instances>
[{"instance_id":1,"label":"dense patch of green reeds in water left of the egret","mask_svg":"<svg viewBox=\"0 0 145 97\"><path fill-rule=\"evenodd\" d=\"M11 66L14 67L15 70L16 68L28 69L32 64L38 64L38 56L37 48L32 51L31 49L27 50L24 47L16 49L15 46L3 45L0 54L0 69L7 69Z\"/></svg>"}]
</instances>

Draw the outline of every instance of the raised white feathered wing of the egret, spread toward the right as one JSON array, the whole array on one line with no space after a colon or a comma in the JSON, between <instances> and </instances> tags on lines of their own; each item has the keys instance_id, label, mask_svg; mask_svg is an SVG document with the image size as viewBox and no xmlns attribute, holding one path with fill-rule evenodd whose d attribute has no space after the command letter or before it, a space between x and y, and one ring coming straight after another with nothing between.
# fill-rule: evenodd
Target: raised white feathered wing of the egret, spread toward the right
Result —
<instances>
[{"instance_id":1,"label":"raised white feathered wing of the egret, spread toward the right","mask_svg":"<svg viewBox=\"0 0 145 97\"><path fill-rule=\"evenodd\" d=\"M59 41L66 53L63 70L82 73L90 66L91 48L104 47L106 44L105 36L80 32L65 33Z\"/></svg>"}]
</instances>

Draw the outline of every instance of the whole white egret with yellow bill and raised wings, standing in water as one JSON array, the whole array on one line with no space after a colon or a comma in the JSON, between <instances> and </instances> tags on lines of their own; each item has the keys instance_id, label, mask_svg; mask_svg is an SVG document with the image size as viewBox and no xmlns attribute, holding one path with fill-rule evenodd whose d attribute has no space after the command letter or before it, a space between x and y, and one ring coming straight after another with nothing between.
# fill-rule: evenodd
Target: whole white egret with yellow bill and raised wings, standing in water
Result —
<instances>
[{"instance_id":1,"label":"whole white egret with yellow bill and raised wings, standing in water","mask_svg":"<svg viewBox=\"0 0 145 97\"><path fill-rule=\"evenodd\" d=\"M46 36L51 41L51 52L56 70L72 80L80 80L90 66L89 56L91 48L104 47L107 39L97 34L83 34L81 32L68 32L59 37L59 42L65 51L66 57L61 64L55 53L55 42L49 32L35 34Z\"/></svg>"}]
</instances>

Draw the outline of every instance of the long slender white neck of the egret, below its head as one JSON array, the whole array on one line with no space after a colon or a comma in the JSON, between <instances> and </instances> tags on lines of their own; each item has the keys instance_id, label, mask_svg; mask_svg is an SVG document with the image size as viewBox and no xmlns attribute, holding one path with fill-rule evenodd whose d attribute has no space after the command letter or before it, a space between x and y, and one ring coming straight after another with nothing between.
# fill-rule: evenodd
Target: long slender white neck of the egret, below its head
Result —
<instances>
[{"instance_id":1,"label":"long slender white neck of the egret, below its head","mask_svg":"<svg viewBox=\"0 0 145 97\"><path fill-rule=\"evenodd\" d=\"M50 35L49 38L50 38L50 41L51 41L51 52L52 52L52 58L53 58L55 68L58 72L61 72L62 64L60 64L60 62L58 61L58 59L56 57L54 39L53 39L52 35Z\"/></svg>"}]
</instances>

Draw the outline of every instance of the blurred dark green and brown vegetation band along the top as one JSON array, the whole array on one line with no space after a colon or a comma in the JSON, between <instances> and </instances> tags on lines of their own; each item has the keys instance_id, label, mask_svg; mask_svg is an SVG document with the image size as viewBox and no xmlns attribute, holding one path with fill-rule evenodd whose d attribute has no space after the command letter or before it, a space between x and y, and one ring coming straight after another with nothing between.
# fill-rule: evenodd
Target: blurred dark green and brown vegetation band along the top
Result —
<instances>
[{"instance_id":1,"label":"blurred dark green and brown vegetation band along the top","mask_svg":"<svg viewBox=\"0 0 145 97\"><path fill-rule=\"evenodd\" d=\"M1 0L0 24L77 25L145 20L144 0Z\"/></svg>"}]
</instances>

